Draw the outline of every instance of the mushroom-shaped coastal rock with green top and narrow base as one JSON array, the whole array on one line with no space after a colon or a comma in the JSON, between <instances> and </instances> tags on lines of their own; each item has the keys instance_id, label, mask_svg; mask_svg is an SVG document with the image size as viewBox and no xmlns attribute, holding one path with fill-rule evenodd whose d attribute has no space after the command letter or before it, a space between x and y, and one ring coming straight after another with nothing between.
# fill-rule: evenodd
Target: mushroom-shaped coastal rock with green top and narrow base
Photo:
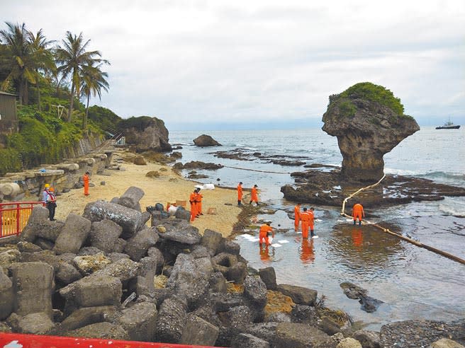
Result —
<instances>
[{"instance_id":1,"label":"mushroom-shaped coastal rock with green top and narrow base","mask_svg":"<svg viewBox=\"0 0 465 348\"><path fill-rule=\"evenodd\" d=\"M391 91L369 82L331 95L323 122L323 130L337 137L342 178L351 181L381 179L384 154L420 129Z\"/></svg>"}]
</instances>

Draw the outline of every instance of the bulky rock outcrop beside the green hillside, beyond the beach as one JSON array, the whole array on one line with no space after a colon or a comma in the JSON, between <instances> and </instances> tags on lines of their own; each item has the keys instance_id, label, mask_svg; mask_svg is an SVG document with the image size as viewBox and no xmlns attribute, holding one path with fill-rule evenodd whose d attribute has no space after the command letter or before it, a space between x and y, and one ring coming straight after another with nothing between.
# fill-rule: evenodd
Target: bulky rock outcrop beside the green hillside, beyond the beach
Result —
<instances>
[{"instance_id":1,"label":"bulky rock outcrop beside the green hillside, beyond the beach","mask_svg":"<svg viewBox=\"0 0 465 348\"><path fill-rule=\"evenodd\" d=\"M171 151L168 129L163 120L157 117L131 117L123 120L119 126L126 137L126 143L133 145L135 151Z\"/></svg>"}]
</instances>

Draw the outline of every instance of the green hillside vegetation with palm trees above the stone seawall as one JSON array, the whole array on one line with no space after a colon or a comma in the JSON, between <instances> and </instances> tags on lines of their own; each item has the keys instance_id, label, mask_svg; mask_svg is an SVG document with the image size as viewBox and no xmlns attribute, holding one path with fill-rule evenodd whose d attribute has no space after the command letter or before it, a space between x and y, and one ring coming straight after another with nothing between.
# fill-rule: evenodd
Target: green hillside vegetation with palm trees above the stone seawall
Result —
<instances>
[{"instance_id":1,"label":"green hillside vegetation with palm trees above the stone seawall","mask_svg":"<svg viewBox=\"0 0 465 348\"><path fill-rule=\"evenodd\" d=\"M109 63L87 45L82 33L70 32L56 45L24 23L0 30L0 91L18 95L20 131L0 134L0 175L60 161L89 132L99 136L117 127L121 117L111 110L89 108L91 95L108 91L101 69Z\"/></svg>"}]
</instances>

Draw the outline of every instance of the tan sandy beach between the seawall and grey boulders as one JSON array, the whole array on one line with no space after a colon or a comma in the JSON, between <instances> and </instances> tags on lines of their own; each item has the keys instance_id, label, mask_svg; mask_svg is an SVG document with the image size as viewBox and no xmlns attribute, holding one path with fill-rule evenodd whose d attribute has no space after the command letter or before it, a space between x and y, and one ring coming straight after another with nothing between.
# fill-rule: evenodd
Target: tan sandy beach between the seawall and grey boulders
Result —
<instances>
[{"instance_id":1,"label":"tan sandy beach between the seawall and grey boulders","mask_svg":"<svg viewBox=\"0 0 465 348\"><path fill-rule=\"evenodd\" d=\"M123 152L116 152L113 157L123 155ZM133 163L121 163L122 170L106 170L109 175L91 175L90 195L84 196L83 189L71 190L62 193L57 198L57 211L55 218L66 219L69 213L81 215L84 207L89 202L97 199L110 201L113 197L120 197L130 186L139 187L145 192L144 197L140 200L142 211L147 206L155 206L156 203L162 203L167 207L167 202L176 202L176 200L185 200L186 209L189 207L189 195L194 190L197 182L186 180L178 173L175 173L170 166L159 163L149 163L146 166L138 166ZM163 169L164 168L164 169ZM145 176L148 172L157 170L158 178L148 178ZM101 182L105 185L101 185ZM214 190L202 190L203 195L202 210L203 216L200 216L192 224L198 228L200 233L206 228L220 232L227 237L232 232L232 226L237 222L237 215L241 209L237 207L237 192L235 190L218 188ZM228 205L225 205L228 204ZM229 205L230 204L230 205ZM216 214L207 214L208 208L215 208ZM147 222L150 225L150 221Z\"/></svg>"}]
</instances>

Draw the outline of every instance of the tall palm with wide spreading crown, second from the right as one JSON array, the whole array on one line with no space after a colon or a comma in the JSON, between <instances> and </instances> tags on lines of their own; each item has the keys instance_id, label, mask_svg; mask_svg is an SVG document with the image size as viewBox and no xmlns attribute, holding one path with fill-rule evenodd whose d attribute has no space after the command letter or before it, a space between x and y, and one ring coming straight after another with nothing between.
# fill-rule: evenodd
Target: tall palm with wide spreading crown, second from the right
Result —
<instances>
[{"instance_id":1,"label":"tall palm with wide spreading crown, second from the right","mask_svg":"<svg viewBox=\"0 0 465 348\"><path fill-rule=\"evenodd\" d=\"M72 35L67 31L65 40L62 40L62 47L57 47L55 51L56 62L58 71L62 74L63 78L69 77L71 79L71 95L69 96L69 109L68 109L68 122L72 121L72 110L74 97L81 95L81 76L85 66L94 66L101 62L106 62L101 59L99 51L88 51L86 47L89 45L90 40L84 42L82 33L79 36Z\"/></svg>"}]
</instances>

